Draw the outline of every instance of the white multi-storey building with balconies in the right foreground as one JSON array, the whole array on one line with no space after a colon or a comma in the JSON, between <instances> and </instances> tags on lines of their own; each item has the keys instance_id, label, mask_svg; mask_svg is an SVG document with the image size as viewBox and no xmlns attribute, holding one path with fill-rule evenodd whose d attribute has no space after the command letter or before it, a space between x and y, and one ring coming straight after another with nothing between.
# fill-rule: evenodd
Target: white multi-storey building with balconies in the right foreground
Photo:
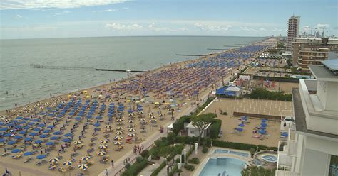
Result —
<instances>
[{"instance_id":1,"label":"white multi-storey building with balconies in the right foreground","mask_svg":"<svg viewBox=\"0 0 338 176\"><path fill-rule=\"evenodd\" d=\"M280 145L277 176L338 175L338 59L322 64L292 89L295 128Z\"/></svg>"}]
</instances>

